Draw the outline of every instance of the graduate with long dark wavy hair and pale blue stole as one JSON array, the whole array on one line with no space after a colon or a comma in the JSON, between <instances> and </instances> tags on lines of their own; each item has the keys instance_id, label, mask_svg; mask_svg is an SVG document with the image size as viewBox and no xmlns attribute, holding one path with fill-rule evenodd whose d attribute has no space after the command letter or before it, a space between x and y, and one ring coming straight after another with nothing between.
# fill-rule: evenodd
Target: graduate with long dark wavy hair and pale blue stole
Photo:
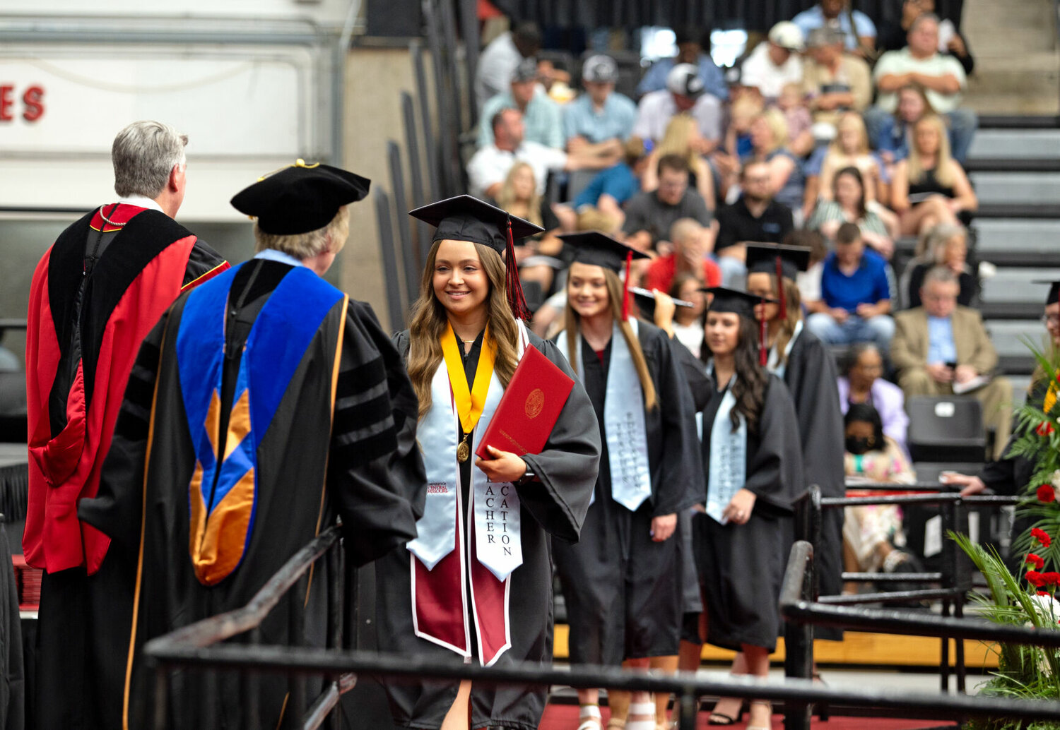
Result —
<instances>
[{"instance_id":1,"label":"graduate with long dark wavy hair and pale blue stole","mask_svg":"<svg viewBox=\"0 0 1060 730\"><path fill-rule=\"evenodd\" d=\"M792 502L802 489L795 407L760 364L754 307L761 299L714 287L703 356L716 390L703 411L706 515L696 541L706 610L701 635L743 653L734 674L765 677L776 648L777 602L791 541ZM708 722L731 725L742 701L723 697ZM750 704L747 727L771 727L770 702Z\"/></svg>"}]
</instances>

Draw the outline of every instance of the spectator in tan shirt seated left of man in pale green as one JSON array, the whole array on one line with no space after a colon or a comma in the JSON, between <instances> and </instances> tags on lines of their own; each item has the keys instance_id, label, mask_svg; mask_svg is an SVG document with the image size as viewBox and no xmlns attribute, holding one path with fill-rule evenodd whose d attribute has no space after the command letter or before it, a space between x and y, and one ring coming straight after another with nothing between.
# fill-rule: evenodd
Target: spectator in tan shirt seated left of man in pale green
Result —
<instances>
[{"instance_id":1,"label":"spectator in tan shirt seated left of man in pale green","mask_svg":"<svg viewBox=\"0 0 1060 730\"><path fill-rule=\"evenodd\" d=\"M819 28L810 33L807 48L810 57L802 63L802 91L815 124L834 126L844 111L868 107L871 72L863 59L843 52L842 34Z\"/></svg>"}]
</instances>

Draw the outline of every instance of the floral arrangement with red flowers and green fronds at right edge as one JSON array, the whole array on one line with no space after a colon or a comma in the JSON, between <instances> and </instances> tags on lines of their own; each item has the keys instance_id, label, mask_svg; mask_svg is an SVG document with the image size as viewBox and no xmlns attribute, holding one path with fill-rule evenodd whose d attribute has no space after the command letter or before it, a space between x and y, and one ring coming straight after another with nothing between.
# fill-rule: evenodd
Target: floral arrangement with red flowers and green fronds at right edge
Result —
<instances>
[{"instance_id":1,"label":"floral arrangement with red flowers and green fronds at right edge","mask_svg":"<svg viewBox=\"0 0 1060 730\"><path fill-rule=\"evenodd\" d=\"M1031 343L1038 361L1036 387L1027 403L1015 411L1015 433L1006 458L1026 460L1034 467L1022 493L1017 517L1031 527L1014 536L1012 557L1006 562L992 548L973 544L965 535L953 539L986 577L989 594L973 593L983 615L999 624L1060 630L1060 355L1047 357ZM1054 412L1056 411L1056 412ZM1060 649L1011 644L993 645L997 671L979 690L982 694L1021 699L1060 699ZM974 730L1060 728L1057 723L1024 725L993 718L975 720Z\"/></svg>"}]
</instances>

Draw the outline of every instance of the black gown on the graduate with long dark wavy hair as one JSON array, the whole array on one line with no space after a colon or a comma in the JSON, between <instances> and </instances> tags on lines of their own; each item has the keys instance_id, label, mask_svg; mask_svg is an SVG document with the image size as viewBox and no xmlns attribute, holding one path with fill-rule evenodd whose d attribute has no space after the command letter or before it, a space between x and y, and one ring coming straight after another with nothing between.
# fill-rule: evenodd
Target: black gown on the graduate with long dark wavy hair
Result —
<instances>
[{"instance_id":1,"label":"black gown on the graduate with long dark wavy hair","mask_svg":"<svg viewBox=\"0 0 1060 730\"><path fill-rule=\"evenodd\" d=\"M703 411L703 469L710 474L710 434L731 428L714 423L725 390ZM802 456L788 389L770 375L758 433L747 433L745 488L757 496L745 524L695 520L700 572L707 610L707 641L741 651L742 644L776 648L780 584L791 539L792 502L802 489ZM707 491L710 485L707 484Z\"/></svg>"}]
</instances>

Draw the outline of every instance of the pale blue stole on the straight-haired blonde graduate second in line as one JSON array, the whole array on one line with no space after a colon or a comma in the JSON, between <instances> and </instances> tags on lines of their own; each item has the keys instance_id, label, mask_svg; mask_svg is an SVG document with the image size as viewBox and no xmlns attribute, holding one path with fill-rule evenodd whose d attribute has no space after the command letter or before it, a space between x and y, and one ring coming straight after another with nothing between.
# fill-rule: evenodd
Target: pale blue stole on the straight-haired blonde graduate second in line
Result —
<instances>
[{"instance_id":1,"label":"pale blue stole on the straight-haired blonde graduate second in line","mask_svg":"<svg viewBox=\"0 0 1060 730\"><path fill-rule=\"evenodd\" d=\"M633 336L637 336L637 320L631 319ZM575 362L579 378L582 371L582 337L576 338ZM560 352L570 360L567 337L560 335ZM644 425L644 394L640 377L633 364L633 355L625 343L625 336L618 322L611 335L611 363L607 367L607 386L604 392L603 430L607 443L607 462L611 466L611 496L630 512L636 512L652 496L652 474L648 461L648 431ZM589 501L596 500L596 494Z\"/></svg>"}]
</instances>

